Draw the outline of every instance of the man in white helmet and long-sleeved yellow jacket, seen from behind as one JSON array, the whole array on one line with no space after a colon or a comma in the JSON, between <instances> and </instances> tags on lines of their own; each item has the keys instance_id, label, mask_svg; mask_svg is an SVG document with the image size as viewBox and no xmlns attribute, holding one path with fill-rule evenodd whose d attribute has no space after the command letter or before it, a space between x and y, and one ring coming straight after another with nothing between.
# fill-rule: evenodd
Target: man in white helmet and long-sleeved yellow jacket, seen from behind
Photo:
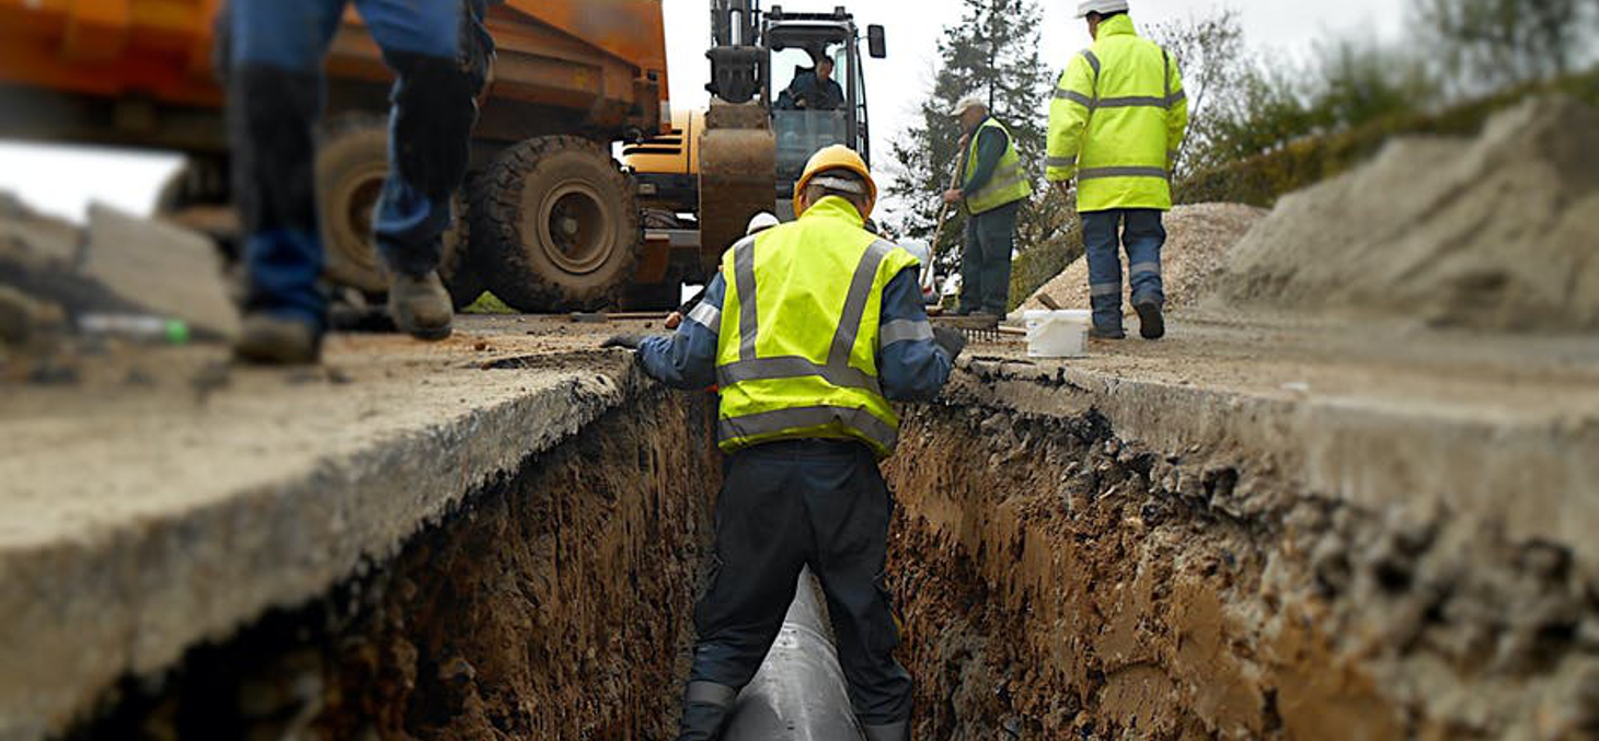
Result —
<instances>
[{"instance_id":1,"label":"man in white helmet and long-sleeved yellow jacket, seen from behind","mask_svg":"<svg viewBox=\"0 0 1599 741\"><path fill-rule=\"evenodd\" d=\"M1076 177L1089 259L1092 335L1124 339L1121 248L1127 251L1138 334L1166 335L1161 214L1172 208L1172 164L1188 128L1177 61L1138 38L1127 0L1078 5L1094 46L1071 59L1049 107L1046 177L1063 192Z\"/></svg>"}]
</instances>

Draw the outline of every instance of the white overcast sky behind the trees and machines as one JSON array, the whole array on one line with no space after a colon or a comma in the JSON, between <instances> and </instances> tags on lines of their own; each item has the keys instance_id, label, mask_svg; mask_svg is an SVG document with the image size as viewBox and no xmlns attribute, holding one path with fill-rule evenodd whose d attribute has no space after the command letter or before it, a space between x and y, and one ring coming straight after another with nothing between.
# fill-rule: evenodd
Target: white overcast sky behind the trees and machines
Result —
<instances>
[{"instance_id":1,"label":"white overcast sky behind the trees and machines","mask_svg":"<svg viewBox=\"0 0 1599 741\"><path fill-rule=\"evenodd\" d=\"M1075 0L1041 0L1044 6L1044 59L1059 69L1070 54L1089 43L1083 22L1071 18ZM705 46L710 13L705 0L664 0L667 13L667 53L672 72L672 104L704 105L710 73ZM771 6L772 2L764 3ZM927 93L937 59L942 29L959 22L959 0L790 0L788 10L830 11L836 5L854 8L857 22L887 27L889 57L870 59L868 101L873 117L873 149L878 166L887 157L887 142L915 115ZM1191 16L1217 5L1236 8L1246 38L1257 48L1305 53L1318 38L1378 34L1394 38L1402 32L1407 3L1393 0L1132 0L1134 19L1161 22ZM40 211L82 219L91 200L125 211L149 212L161 182L177 168L165 153L114 152L83 147L42 147L0 141L0 190L19 193Z\"/></svg>"}]
</instances>

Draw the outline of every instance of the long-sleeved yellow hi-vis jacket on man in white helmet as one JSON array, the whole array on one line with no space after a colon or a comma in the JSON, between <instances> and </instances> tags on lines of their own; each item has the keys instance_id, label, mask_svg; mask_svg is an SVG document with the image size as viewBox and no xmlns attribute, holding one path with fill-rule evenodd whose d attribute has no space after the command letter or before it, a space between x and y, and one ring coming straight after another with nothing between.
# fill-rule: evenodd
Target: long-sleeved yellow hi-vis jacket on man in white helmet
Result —
<instances>
[{"instance_id":1,"label":"long-sleeved yellow hi-vis jacket on man in white helmet","mask_svg":"<svg viewBox=\"0 0 1599 741\"><path fill-rule=\"evenodd\" d=\"M1100 24L1049 105L1051 182L1078 179L1078 211L1172 208L1170 169L1188 129L1177 61L1127 16Z\"/></svg>"}]
</instances>

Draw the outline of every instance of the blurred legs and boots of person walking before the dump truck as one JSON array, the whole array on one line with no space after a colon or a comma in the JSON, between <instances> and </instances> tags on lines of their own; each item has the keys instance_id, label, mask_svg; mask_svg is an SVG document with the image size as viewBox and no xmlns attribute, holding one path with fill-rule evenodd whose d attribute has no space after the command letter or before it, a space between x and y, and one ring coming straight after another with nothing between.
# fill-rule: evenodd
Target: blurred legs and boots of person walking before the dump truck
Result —
<instances>
[{"instance_id":1,"label":"blurred legs and boots of person walking before the dump truck","mask_svg":"<svg viewBox=\"0 0 1599 741\"><path fill-rule=\"evenodd\" d=\"M484 2L355 0L397 73L389 179L373 216L389 311L401 331L427 340L451 332L449 294L435 268L494 53ZM323 56L344 6L232 0L227 8L229 137L249 270L235 350L246 361L315 363L328 326L312 160Z\"/></svg>"}]
</instances>

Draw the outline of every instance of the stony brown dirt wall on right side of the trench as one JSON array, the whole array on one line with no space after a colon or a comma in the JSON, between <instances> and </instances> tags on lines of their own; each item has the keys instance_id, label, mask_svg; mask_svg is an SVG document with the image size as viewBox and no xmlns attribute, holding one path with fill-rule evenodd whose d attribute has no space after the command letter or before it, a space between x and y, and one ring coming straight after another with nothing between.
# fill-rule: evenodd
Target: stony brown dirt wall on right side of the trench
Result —
<instances>
[{"instance_id":1,"label":"stony brown dirt wall on right side of the trench","mask_svg":"<svg viewBox=\"0 0 1599 741\"><path fill-rule=\"evenodd\" d=\"M1565 548L1199 450L1094 410L908 415L916 738L1599 738L1599 578Z\"/></svg>"}]
</instances>

